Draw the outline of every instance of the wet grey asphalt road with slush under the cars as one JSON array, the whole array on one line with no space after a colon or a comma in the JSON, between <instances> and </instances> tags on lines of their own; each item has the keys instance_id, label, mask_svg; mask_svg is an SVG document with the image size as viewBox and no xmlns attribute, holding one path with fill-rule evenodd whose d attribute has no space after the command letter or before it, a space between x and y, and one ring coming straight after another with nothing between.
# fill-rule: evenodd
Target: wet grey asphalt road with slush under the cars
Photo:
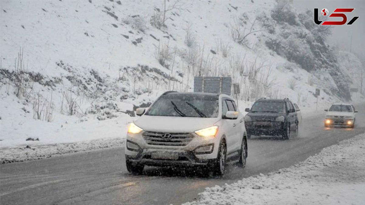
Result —
<instances>
[{"instance_id":1,"label":"wet grey asphalt road with slush under the cars","mask_svg":"<svg viewBox=\"0 0 365 205\"><path fill-rule=\"evenodd\" d=\"M350 128L324 128L324 111L305 117L289 140L255 137L248 140L245 169L228 166L223 178L189 169L146 167L143 175L126 170L124 148L68 154L0 165L0 204L181 204L207 186L289 167L365 131L365 105L357 106Z\"/></svg>"}]
</instances>

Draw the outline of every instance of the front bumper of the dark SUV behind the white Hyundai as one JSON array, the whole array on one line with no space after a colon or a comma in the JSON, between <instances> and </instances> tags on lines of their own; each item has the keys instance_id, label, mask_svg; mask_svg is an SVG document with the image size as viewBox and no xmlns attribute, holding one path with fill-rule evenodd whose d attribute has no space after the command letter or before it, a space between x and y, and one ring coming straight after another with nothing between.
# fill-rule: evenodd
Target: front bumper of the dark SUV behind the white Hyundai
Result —
<instances>
[{"instance_id":1,"label":"front bumper of the dark SUV behind the white Hyundai","mask_svg":"<svg viewBox=\"0 0 365 205\"><path fill-rule=\"evenodd\" d=\"M250 135L281 135L284 122L276 121L250 121L245 123L246 131Z\"/></svg>"}]
</instances>

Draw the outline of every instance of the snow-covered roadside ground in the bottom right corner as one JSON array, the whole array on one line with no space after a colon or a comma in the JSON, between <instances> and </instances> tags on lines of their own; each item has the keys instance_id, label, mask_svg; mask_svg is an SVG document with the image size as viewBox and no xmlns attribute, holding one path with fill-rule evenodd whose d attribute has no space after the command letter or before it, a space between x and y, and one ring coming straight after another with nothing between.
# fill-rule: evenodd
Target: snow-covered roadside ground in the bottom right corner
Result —
<instances>
[{"instance_id":1,"label":"snow-covered roadside ground in the bottom right corner","mask_svg":"<svg viewBox=\"0 0 365 205\"><path fill-rule=\"evenodd\" d=\"M197 201L220 204L365 204L365 134L324 148L304 162L231 185L207 187Z\"/></svg>"}]
</instances>

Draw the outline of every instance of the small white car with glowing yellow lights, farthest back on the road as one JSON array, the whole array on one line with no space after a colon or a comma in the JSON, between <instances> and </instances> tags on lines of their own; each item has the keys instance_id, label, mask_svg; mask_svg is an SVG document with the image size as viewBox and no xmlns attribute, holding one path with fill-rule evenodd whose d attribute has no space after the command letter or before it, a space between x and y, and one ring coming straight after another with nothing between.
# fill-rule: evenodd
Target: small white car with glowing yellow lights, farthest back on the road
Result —
<instances>
[{"instance_id":1,"label":"small white car with glowing yellow lights, farthest back on the road","mask_svg":"<svg viewBox=\"0 0 365 205\"><path fill-rule=\"evenodd\" d=\"M324 127L335 126L346 126L354 128L355 126L355 110L351 104L341 103L333 104L327 111L326 118L324 120Z\"/></svg>"}]
</instances>

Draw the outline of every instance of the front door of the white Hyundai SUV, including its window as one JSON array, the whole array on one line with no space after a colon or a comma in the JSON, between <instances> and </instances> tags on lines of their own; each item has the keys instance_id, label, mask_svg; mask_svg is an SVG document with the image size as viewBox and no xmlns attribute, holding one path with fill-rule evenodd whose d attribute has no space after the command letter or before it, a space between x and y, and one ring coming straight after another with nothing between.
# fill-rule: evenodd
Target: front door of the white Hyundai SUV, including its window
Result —
<instances>
[{"instance_id":1,"label":"front door of the white Hyundai SUV, including its window","mask_svg":"<svg viewBox=\"0 0 365 205\"><path fill-rule=\"evenodd\" d=\"M223 120L223 127L226 134L226 143L227 143L227 155L231 154L231 152L234 150L234 139L236 135L235 131L235 120L232 119L225 119L224 116L226 115L227 111L230 111L229 109L234 109L232 103L227 103L228 98L222 98L222 120ZM229 105L229 107L228 107ZM231 110L232 111L232 110Z\"/></svg>"}]
</instances>

